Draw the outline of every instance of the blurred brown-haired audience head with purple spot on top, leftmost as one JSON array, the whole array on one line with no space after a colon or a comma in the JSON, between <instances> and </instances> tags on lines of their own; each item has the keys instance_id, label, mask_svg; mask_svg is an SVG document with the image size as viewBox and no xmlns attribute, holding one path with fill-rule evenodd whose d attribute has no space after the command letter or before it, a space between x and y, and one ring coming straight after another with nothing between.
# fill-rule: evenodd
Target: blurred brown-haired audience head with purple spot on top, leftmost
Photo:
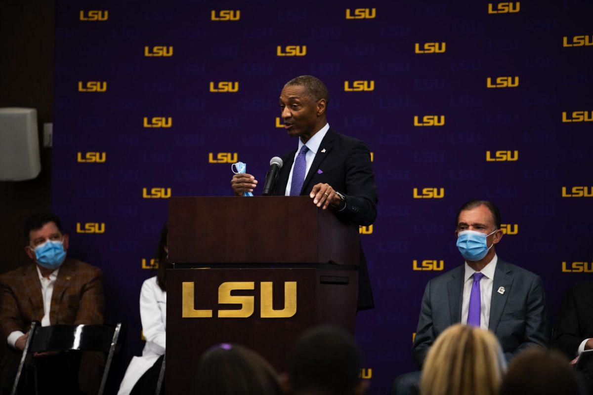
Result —
<instances>
[{"instance_id":1,"label":"blurred brown-haired audience head with purple spot on top, leftmost","mask_svg":"<svg viewBox=\"0 0 593 395\"><path fill-rule=\"evenodd\" d=\"M282 394L276 372L265 359L228 343L216 345L202 356L196 389L205 395Z\"/></svg>"}]
</instances>

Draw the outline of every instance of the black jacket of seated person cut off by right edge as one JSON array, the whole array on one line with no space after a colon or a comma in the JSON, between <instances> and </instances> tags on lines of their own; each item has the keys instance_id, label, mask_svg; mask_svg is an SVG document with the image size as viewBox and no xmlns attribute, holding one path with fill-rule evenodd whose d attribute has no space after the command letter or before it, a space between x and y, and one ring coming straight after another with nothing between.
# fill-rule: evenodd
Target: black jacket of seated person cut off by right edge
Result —
<instances>
[{"instance_id":1,"label":"black jacket of seated person cut off by right edge","mask_svg":"<svg viewBox=\"0 0 593 395\"><path fill-rule=\"evenodd\" d=\"M566 291L554 325L552 346L570 359L582 341L593 338L593 281L581 282Z\"/></svg>"}]
</instances>

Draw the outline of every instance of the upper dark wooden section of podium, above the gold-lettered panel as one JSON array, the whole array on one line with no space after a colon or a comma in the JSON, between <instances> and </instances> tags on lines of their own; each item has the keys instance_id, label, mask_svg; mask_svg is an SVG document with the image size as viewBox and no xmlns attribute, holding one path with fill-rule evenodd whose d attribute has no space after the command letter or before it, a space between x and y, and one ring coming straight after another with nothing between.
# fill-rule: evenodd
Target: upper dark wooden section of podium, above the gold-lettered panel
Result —
<instances>
[{"instance_id":1,"label":"upper dark wooden section of podium, above the gold-lettered panel","mask_svg":"<svg viewBox=\"0 0 593 395\"><path fill-rule=\"evenodd\" d=\"M359 264L358 227L308 196L171 197L169 261Z\"/></svg>"}]
</instances>

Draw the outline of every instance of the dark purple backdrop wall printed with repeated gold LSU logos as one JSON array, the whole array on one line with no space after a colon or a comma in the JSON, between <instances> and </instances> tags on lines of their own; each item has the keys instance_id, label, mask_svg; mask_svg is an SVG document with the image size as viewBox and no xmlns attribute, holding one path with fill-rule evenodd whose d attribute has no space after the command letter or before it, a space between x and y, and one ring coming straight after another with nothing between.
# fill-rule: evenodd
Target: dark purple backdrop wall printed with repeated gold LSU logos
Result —
<instances>
[{"instance_id":1,"label":"dark purple backdrop wall printed with repeated gold LSU logos","mask_svg":"<svg viewBox=\"0 0 593 395\"><path fill-rule=\"evenodd\" d=\"M278 97L298 75L326 83L331 127L372 152L376 307L356 323L372 394L415 369L426 282L463 264L465 201L499 206L498 255L543 277L552 321L591 278L590 0L56 3L53 208L69 254L104 271L106 322L129 323L119 377L142 349L167 197L231 194L237 160L261 186L297 146Z\"/></svg>"}]
</instances>

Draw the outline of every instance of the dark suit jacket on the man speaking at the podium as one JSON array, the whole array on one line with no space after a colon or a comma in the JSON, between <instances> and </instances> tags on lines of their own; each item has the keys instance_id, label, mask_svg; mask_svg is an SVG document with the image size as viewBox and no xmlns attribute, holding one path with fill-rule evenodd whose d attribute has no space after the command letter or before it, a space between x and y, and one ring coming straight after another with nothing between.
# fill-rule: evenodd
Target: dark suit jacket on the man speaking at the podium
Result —
<instances>
[{"instance_id":1,"label":"dark suit jacket on the man speaking at the podium","mask_svg":"<svg viewBox=\"0 0 593 395\"><path fill-rule=\"evenodd\" d=\"M325 149L325 152L321 152ZM282 156L283 166L272 195L284 195L297 148ZM321 169L321 174L318 170ZM371 166L371 154L361 140L344 136L329 129L321 140L311 168L305 176L301 195L308 195L313 186L327 183L346 196L346 208L336 211L353 226L368 226L377 217L377 185ZM313 203L311 203L313 204ZM358 268L358 309L374 307L366 258L361 247Z\"/></svg>"}]
</instances>

